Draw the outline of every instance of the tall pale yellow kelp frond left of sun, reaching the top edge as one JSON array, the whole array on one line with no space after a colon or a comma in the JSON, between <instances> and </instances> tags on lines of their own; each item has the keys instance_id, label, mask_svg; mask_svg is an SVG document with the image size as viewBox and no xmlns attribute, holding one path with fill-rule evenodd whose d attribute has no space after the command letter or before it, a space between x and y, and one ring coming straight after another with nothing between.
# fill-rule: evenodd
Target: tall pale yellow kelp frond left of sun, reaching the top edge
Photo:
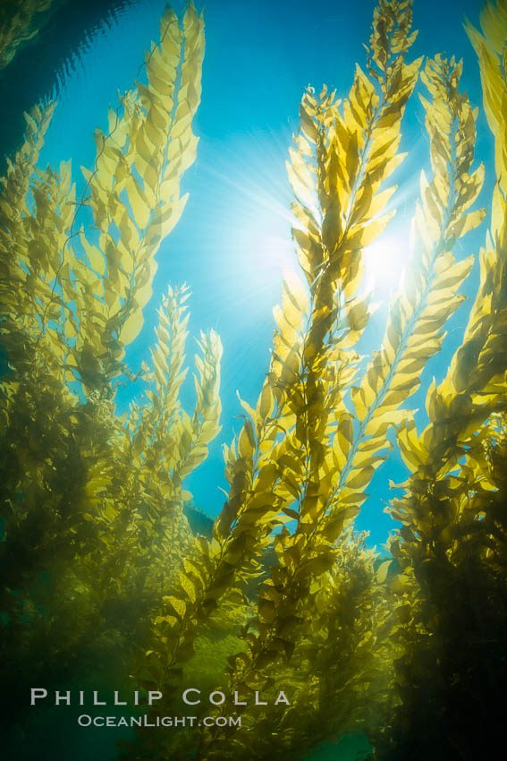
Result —
<instances>
[{"instance_id":1,"label":"tall pale yellow kelp frond left of sun, reaching the top edge","mask_svg":"<svg viewBox=\"0 0 507 761\"><path fill-rule=\"evenodd\" d=\"M107 262L100 338L112 342L114 356L139 333L153 257L182 214L180 179L197 147L190 124L200 99L203 23L193 5L181 24L168 8L160 29L159 45L146 56L148 85L139 81L124 96L121 117L110 112L107 135L96 131L95 171L85 172Z\"/></svg>"}]
</instances>

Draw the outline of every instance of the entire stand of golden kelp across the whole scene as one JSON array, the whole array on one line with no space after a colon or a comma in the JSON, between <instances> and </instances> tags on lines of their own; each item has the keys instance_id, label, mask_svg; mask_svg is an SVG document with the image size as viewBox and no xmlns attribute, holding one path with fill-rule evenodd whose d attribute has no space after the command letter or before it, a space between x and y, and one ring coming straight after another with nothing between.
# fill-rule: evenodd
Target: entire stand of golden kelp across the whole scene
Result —
<instances>
[{"instance_id":1,"label":"entire stand of golden kelp across the whole scene","mask_svg":"<svg viewBox=\"0 0 507 761\"><path fill-rule=\"evenodd\" d=\"M94 135L78 200L70 162L37 167L54 106L27 115L0 197L2 679L19 706L35 681L82 687L91 672L90 688L160 692L141 709L149 719L181 713L190 685L224 692L216 707L192 706L215 723L127 734L124 758L294 759L358 729L376 759L471 761L485 733L503 748L507 4L488 2L482 30L467 28L496 184L477 296L444 381L427 389L423 432L408 400L464 300L475 252L458 251L485 218L485 172L462 64L412 60L411 21L408 0L380 0L348 95L308 88L301 101L287 165L300 274L283 282L258 400L241 400L241 432L224 446L229 491L208 537L190 532L183 482L219 432L222 346L201 334L189 415L186 286L168 287L151 365L134 374L125 362L186 201L202 17L166 10L145 82ZM416 87L431 173L383 341L364 357L364 249L393 216ZM120 417L115 391L133 377L145 394ZM353 521L394 446L410 477L380 561ZM216 721L231 714L241 727Z\"/></svg>"}]
</instances>

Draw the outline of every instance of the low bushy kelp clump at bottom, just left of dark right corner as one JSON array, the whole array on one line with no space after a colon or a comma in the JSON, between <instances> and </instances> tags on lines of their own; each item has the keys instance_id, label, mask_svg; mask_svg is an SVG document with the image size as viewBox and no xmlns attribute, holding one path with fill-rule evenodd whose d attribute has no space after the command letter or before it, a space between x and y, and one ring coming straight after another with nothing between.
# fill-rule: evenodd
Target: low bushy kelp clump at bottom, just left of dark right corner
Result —
<instances>
[{"instance_id":1,"label":"low bushy kelp clump at bottom, just left of dark right corner","mask_svg":"<svg viewBox=\"0 0 507 761\"><path fill-rule=\"evenodd\" d=\"M308 600L303 636L290 659L278 663L276 669L271 665L272 680L261 683L258 672L250 671L245 677L250 689L231 684L238 688L240 700L249 701L254 690L260 690L263 699L274 701L282 689L291 705L269 702L255 705L255 713L253 708L246 709L241 714L241 732L220 732L221 740L225 735L221 745L210 742L207 734L213 732L205 733L199 757L304 758L320 740L353 731L364 722L367 692L373 699L384 696L385 680L379 670L383 643L376 638L384 596L376 584L376 553L366 550L364 540L364 534L350 531L340 537L333 567L325 571L324 583ZM275 599L275 589L271 588L270 596ZM268 614L267 602L264 609ZM297 620L287 620L285 636L297 626ZM244 651L229 658L236 672L244 671L248 661ZM241 707L234 709L241 711Z\"/></svg>"}]
</instances>

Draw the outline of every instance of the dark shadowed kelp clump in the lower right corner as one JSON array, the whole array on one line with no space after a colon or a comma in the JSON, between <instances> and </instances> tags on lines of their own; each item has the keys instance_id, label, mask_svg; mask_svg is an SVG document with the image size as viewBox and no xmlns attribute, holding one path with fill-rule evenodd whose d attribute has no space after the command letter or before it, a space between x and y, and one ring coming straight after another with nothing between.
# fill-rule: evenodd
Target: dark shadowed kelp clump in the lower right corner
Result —
<instances>
[{"instance_id":1,"label":"dark shadowed kelp clump in the lower right corner","mask_svg":"<svg viewBox=\"0 0 507 761\"><path fill-rule=\"evenodd\" d=\"M477 699L485 716L498 715L505 680L504 415L482 426L476 421L476 428L459 469L436 483L419 472L419 490L412 479L411 500L399 503L403 526L391 550L404 571L391 587L403 614L393 632L401 645L395 662L401 705L372 738L381 761L411 757L408 747L426 759L443 739L442 757L461 745L471 761L484 740L484 727L475 723ZM502 755L503 732L490 741Z\"/></svg>"}]
</instances>

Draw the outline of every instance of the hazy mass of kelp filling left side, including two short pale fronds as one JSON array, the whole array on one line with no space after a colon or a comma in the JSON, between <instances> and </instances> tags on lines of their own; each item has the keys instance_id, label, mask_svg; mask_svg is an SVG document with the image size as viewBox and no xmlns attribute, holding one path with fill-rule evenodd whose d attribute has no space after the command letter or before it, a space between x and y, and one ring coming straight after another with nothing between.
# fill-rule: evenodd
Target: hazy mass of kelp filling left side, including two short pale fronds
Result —
<instances>
[{"instance_id":1,"label":"hazy mass of kelp filling left side, including two short pale fronds","mask_svg":"<svg viewBox=\"0 0 507 761\"><path fill-rule=\"evenodd\" d=\"M2 180L5 726L25 718L37 678L51 687L63 670L72 679L115 661L127 680L149 612L192 543L182 480L219 431L220 340L201 334L193 415L178 399L186 287L163 299L152 364L134 375L123 355L142 325L156 251L186 201L203 52L193 6L181 21L167 8L148 84L110 111L107 134L96 131L77 201L70 162L36 166L54 105L26 116L26 141ZM119 417L117 383L138 379L146 397Z\"/></svg>"}]
</instances>

